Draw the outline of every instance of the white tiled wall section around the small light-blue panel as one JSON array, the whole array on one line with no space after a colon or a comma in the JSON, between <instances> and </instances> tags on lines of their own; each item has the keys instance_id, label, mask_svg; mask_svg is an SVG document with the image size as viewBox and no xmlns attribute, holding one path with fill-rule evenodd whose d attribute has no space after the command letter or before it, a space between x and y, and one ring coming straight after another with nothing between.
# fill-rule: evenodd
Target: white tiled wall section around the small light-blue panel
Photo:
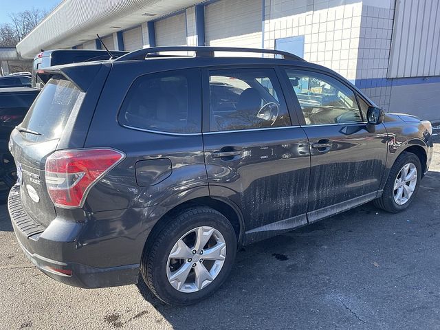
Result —
<instances>
[{"instance_id":1,"label":"white tiled wall section around the small light-blue panel","mask_svg":"<svg viewBox=\"0 0 440 330\"><path fill-rule=\"evenodd\" d=\"M266 0L264 47L276 39L304 36L306 61L356 79L362 2ZM335 3L342 3L335 5Z\"/></svg>"}]
</instances>

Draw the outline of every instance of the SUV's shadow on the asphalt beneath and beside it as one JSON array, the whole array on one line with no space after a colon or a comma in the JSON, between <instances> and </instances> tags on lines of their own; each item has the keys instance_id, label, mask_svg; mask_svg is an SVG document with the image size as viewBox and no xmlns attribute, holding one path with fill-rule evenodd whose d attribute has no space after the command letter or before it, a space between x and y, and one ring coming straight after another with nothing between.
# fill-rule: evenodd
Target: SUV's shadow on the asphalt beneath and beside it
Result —
<instances>
[{"instance_id":1,"label":"SUV's shadow on the asphalt beneath and beside it","mask_svg":"<svg viewBox=\"0 0 440 330\"><path fill-rule=\"evenodd\" d=\"M413 273L440 285L424 271L432 260L419 248L421 240L431 246L440 226L432 216L440 214L432 203L440 200L440 173L428 177L422 183L436 188L435 196L419 190L403 213L367 203L240 248L228 280L196 305L165 305L142 278L137 287L174 329L383 329L429 318L412 308L408 295L417 292L406 289Z\"/></svg>"}]
</instances>

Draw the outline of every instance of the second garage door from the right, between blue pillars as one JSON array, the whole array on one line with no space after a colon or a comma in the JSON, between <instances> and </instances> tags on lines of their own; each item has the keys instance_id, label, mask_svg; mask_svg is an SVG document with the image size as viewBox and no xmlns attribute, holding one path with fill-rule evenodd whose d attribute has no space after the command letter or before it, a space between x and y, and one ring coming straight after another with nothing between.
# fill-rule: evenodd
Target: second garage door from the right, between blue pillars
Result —
<instances>
[{"instance_id":1,"label":"second garage door from the right, between blue pillars","mask_svg":"<svg viewBox=\"0 0 440 330\"><path fill-rule=\"evenodd\" d=\"M178 14L155 23L156 44L158 46L186 45L186 17Z\"/></svg>"}]
</instances>

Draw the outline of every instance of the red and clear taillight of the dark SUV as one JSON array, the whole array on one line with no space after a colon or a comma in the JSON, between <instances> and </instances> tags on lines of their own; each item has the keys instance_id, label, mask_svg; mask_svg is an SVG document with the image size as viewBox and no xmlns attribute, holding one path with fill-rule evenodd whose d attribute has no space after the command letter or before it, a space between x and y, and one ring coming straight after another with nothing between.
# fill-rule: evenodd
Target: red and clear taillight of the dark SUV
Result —
<instances>
[{"instance_id":1,"label":"red and clear taillight of the dark SUV","mask_svg":"<svg viewBox=\"0 0 440 330\"><path fill-rule=\"evenodd\" d=\"M55 151L47 157L47 192L56 206L83 206L90 188L124 158L113 149Z\"/></svg>"}]
</instances>

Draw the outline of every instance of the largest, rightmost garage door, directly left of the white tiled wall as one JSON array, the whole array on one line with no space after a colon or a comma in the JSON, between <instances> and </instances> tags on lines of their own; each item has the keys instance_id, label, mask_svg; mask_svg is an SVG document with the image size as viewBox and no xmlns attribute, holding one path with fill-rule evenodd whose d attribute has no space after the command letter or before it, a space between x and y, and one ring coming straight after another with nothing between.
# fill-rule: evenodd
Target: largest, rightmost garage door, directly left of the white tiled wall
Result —
<instances>
[{"instance_id":1,"label":"largest, rightmost garage door, directly left of the white tiled wall","mask_svg":"<svg viewBox=\"0 0 440 330\"><path fill-rule=\"evenodd\" d=\"M222 0L205 7L206 45L261 48L261 0Z\"/></svg>"}]
</instances>

